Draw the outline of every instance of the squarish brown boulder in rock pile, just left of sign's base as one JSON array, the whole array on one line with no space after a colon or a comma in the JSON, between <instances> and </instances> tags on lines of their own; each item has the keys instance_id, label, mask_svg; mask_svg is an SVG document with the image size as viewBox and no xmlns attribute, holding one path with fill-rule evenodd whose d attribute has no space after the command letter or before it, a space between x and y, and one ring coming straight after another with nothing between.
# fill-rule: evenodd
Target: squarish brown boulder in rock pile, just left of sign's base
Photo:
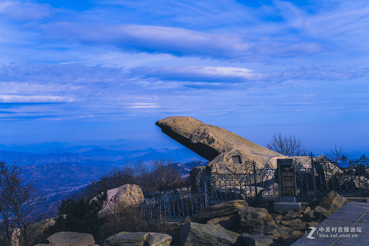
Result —
<instances>
[{"instance_id":1,"label":"squarish brown boulder in rock pile, just left of sign's base","mask_svg":"<svg viewBox=\"0 0 369 246\"><path fill-rule=\"evenodd\" d=\"M241 226L256 228L259 225L273 224L272 215L265 208L244 207L240 210Z\"/></svg>"}]
</instances>

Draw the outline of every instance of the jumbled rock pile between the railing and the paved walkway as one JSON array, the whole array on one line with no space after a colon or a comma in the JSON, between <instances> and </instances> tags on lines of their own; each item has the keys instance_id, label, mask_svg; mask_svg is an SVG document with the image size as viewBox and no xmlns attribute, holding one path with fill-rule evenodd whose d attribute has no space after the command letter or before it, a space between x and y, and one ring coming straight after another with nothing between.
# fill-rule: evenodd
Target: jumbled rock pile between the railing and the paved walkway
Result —
<instances>
[{"instance_id":1,"label":"jumbled rock pile between the railing and the paved walkway","mask_svg":"<svg viewBox=\"0 0 369 246\"><path fill-rule=\"evenodd\" d=\"M173 236L173 245L290 245L347 202L331 191L304 203L299 211L278 213L272 207L249 207L244 200L204 208Z\"/></svg>"}]
</instances>

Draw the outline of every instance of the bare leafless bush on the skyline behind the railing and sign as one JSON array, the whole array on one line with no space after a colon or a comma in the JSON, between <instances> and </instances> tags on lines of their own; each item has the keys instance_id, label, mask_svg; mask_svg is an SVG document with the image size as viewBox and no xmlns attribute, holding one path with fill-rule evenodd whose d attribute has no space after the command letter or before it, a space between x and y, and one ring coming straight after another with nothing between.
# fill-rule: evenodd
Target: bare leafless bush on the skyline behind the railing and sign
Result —
<instances>
[{"instance_id":1,"label":"bare leafless bush on the skyline behind the railing and sign","mask_svg":"<svg viewBox=\"0 0 369 246\"><path fill-rule=\"evenodd\" d=\"M272 135L272 139L269 142L266 142L268 148L281 153L285 156L307 156L309 155L309 150L304 145L304 141L297 138L295 135L291 136L285 134L276 134Z\"/></svg>"}]
</instances>

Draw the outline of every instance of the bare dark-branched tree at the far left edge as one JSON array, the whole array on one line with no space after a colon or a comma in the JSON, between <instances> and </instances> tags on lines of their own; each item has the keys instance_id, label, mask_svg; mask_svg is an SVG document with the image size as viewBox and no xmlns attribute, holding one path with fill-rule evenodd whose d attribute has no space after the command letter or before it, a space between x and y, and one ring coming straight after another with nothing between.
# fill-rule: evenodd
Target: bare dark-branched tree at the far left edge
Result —
<instances>
[{"instance_id":1,"label":"bare dark-branched tree at the far left edge","mask_svg":"<svg viewBox=\"0 0 369 246\"><path fill-rule=\"evenodd\" d=\"M13 237L23 245L29 242L28 227L34 222L34 207L45 201L34 183L23 184L21 169L0 162L0 224L5 242ZM20 240L21 239L21 240Z\"/></svg>"}]
</instances>

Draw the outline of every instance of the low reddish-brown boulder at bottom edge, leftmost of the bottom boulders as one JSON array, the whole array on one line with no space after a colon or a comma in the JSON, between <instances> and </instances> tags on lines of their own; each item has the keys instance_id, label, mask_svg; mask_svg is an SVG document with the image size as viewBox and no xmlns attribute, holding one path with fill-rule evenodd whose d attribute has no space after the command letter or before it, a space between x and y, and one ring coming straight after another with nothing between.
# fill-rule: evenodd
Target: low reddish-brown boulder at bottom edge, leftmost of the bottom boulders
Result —
<instances>
[{"instance_id":1,"label":"low reddish-brown boulder at bottom edge, leftmost of the bottom boulders","mask_svg":"<svg viewBox=\"0 0 369 246\"><path fill-rule=\"evenodd\" d=\"M93 236L88 233L57 232L46 239L53 246L91 246L95 244Z\"/></svg>"}]
</instances>

